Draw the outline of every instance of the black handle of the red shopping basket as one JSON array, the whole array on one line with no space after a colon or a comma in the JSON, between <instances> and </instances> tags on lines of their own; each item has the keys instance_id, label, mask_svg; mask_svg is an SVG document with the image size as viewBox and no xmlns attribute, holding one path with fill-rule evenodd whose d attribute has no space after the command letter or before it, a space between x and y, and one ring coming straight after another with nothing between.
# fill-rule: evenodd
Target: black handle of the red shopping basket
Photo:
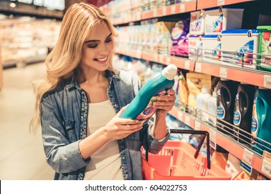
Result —
<instances>
[{"instance_id":1,"label":"black handle of the red shopping basket","mask_svg":"<svg viewBox=\"0 0 271 194\"><path fill-rule=\"evenodd\" d=\"M202 135L202 139L199 141L199 145L197 146L197 150L195 152L195 159L197 158L197 156L199 155L199 150L200 148L202 148L202 144L204 143L204 139L206 137L206 151L207 151L207 168L210 169L211 168L211 161L210 161L210 135L208 132L206 131L199 131L199 130L174 130L174 129L170 129L170 133L179 133L179 134L201 134ZM148 150L146 150L146 160L148 161Z\"/></svg>"}]
</instances>

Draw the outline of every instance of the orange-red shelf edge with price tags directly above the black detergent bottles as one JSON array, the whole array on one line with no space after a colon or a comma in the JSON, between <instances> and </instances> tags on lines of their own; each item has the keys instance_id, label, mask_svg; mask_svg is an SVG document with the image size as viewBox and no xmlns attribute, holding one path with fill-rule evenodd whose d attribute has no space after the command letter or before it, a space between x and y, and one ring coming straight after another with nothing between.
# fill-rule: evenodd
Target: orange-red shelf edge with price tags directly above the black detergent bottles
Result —
<instances>
[{"instance_id":1,"label":"orange-red shelf edge with price tags directly above the black detergent bottles","mask_svg":"<svg viewBox=\"0 0 271 194\"><path fill-rule=\"evenodd\" d=\"M267 71L238 69L238 67L227 67L222 64L211 64L199 61L195 64L195 71L271 89L271 73Z\"/></svg>"}]
</instances>

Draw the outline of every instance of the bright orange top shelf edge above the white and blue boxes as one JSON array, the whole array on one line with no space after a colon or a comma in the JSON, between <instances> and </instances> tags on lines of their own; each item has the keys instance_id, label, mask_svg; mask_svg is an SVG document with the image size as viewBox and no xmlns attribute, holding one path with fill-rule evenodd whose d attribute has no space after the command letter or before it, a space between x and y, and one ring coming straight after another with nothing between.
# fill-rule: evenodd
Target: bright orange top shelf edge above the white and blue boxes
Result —
<instances>
[{"instance_id":1,"label":"bright orange top shelf edge above the white and blue boxes","mask_svg":"<svg viewBox=\"0 0 271 194\"><path fill-rule=\"evenodd\" d=\"M206 9L206 8L215 8L218 6L227 6L234 3L243 3L247 1L256 1L256 0L197 0L197 10Z\"/></svg>"}]
</instances>

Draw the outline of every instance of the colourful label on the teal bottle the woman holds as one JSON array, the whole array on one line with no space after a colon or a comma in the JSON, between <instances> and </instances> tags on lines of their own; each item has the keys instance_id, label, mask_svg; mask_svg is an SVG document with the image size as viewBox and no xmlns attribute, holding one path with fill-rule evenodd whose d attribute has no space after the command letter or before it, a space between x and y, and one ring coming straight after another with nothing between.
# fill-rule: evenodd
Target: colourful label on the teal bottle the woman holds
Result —
<instances>
[{"instance_id":1,"label":"colourful label on the teal bottle the woman holds","mask_svg":"<svg viewBox=\"0 0 271 194\"><path fill-rule=\"evenodd\" d=\"M153 103L157 101L157 96L165 95L165 91L159 92L156 96L153 96L151 100L149 100L149 104L147 107L136 117L139 121L147 121L151 116L156 112L156 108L153 106Z\"/></svg>"}]
</instances>

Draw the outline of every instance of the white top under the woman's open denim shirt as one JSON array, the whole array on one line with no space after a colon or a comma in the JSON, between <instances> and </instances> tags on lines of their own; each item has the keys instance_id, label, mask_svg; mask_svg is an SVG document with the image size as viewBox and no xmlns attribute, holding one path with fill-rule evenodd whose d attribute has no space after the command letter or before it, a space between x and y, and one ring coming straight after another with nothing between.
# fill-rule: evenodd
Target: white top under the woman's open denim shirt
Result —
<instances>
[{"instance_id":1,"label":"white top under the woman's open denim shirt","mask_svg":"<svg viewBox=\"0 0 271 194\"><path fill-rule=\"evenodd\" d=\"M109 100L89 103L88 135L106 125L115 116ZM85 168L85 180L123 180L120 149L117 141L109 141L90 156L91 161Z\"/></svg>"}]
</instances>

